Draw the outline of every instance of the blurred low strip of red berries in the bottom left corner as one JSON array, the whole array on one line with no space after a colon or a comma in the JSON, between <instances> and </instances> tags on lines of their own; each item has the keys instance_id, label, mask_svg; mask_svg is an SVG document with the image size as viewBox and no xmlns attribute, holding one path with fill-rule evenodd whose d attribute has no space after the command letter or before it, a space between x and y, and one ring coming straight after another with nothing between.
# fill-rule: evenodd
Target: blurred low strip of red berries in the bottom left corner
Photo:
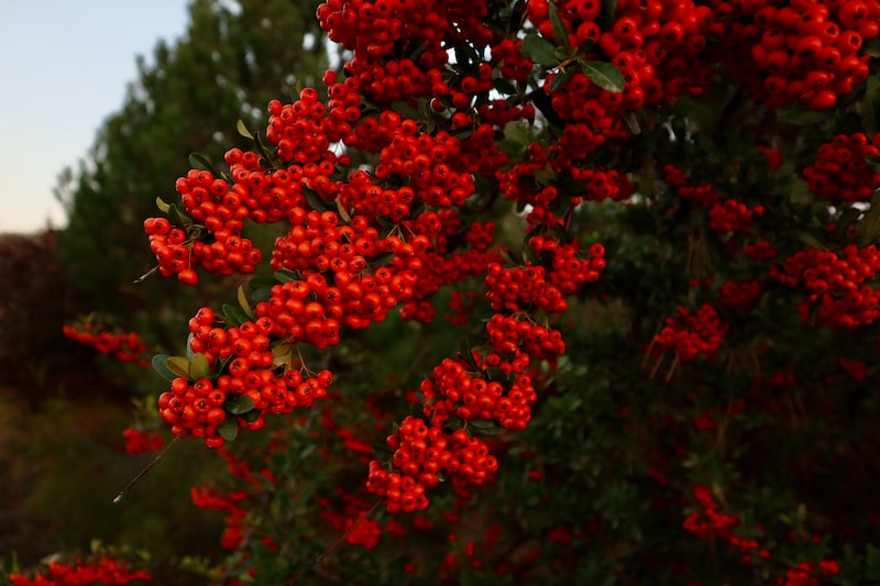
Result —
<instances>
[{"instance_id":1,"label":"blurred low strip of red berries in the bottom left corner","mask_svg":"<svg viewBox=\"0 0 880 586\"><path fill-rule=\"evenodd\" d=\"M132 582L153 579L153 576L143 570L130 570L124 562L112 557L99 557L86 561L77 559L72 564L51 561L45 570L25 576L23 574L9 574L13 586L92 586L95 584L130 584Z\"/></svg>"}]
</instances>

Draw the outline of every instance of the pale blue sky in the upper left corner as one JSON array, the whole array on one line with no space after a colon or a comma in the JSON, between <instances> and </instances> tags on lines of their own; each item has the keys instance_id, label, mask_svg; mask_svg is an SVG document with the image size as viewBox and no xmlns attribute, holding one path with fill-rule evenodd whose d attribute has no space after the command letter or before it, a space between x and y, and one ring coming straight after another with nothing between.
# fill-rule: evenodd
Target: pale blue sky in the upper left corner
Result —
<instances>
[{"instance_id":1,"label":"pale blue sky in the upper left corner","mask_svg":"<svg viewBox=\"0 0 880 586\"><path fill-rule=\"evenodd\" d=\"M53 195L189 0L0 0L0 233L63 228Z\"/></svg>"}]
</instances>

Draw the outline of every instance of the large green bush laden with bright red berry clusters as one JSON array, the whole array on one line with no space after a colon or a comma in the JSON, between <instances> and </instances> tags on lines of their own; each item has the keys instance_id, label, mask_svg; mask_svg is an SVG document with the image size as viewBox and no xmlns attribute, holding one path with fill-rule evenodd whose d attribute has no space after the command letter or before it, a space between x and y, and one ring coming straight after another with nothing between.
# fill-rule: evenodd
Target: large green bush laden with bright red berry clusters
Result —
<instances>
[{"instance_id":1,"label":"large green bush laden with bright red berry clusters","mask_svg":"<svg viewBox=\"0 0 880 586\"><path fill-rule=\"evenodd\" d=\"M152 360L230 476L191 490L226 522L206 576L880 579L880 4L317 20L341 70L143 224L184 285L272 269Z\"/></svg>"}]
</instances>

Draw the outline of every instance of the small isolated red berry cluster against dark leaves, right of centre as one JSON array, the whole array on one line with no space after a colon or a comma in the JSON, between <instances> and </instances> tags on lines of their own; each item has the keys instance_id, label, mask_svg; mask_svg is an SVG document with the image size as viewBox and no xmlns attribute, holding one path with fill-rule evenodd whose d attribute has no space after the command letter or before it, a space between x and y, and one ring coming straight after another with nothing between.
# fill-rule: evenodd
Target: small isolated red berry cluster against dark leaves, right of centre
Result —
<instances>
[{"instance_id":1,"label":"small isolated red berry cluster against dark leaves, right of centre","mask_svg":"<svg viewBox=\"0 0 880 586\"><path fill-rule=\"evenodd\" d=\"M711 305L702 306L693 316L680 307L676 318L667 318L653 346L661 351L674 349L681 362L693 362L701 354L711 356L718 350L726 333L727 324Z\"/></svg>"}]
</instances>

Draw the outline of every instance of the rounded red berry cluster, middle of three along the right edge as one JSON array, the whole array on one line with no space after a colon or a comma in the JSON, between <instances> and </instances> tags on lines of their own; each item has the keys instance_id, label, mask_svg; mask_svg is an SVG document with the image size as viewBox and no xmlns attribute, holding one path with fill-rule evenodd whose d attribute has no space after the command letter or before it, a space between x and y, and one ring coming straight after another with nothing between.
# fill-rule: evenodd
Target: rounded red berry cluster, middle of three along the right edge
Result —
<instances>
[{"instance_id":1,"label":"rounded red berry cluster, middle of three along the right edge","mask_svg":"<svg viewBox=\"0 0 880 586\"><path fill-rule=\"evenodd\" d=\"M880 133L868 139L857 132L838 134L818 147L815 163L804 169L804 179L816 196L833 202L867 201L880 188L880 174L866 165L880 151Z\"/></svg>"}]
</instances>

